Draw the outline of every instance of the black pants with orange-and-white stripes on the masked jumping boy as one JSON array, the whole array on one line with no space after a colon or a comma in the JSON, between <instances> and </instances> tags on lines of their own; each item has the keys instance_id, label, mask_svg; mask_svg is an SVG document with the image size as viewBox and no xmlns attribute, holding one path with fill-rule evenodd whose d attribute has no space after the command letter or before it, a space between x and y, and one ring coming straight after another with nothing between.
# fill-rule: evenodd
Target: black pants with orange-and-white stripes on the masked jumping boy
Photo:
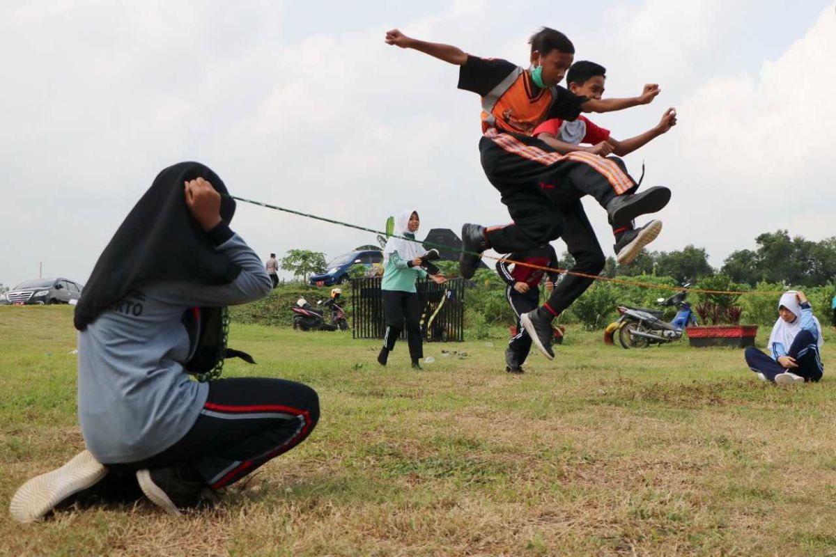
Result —
<instances>
[{"instance_id":1,"label":"black pants with orange-and-white stripes on the masked jumping boy","mask_svg":"<svg viewBox=\"0 0 836 557\"><path fill-rule=\"evenodd\" d=\"M527 135L489 131L479 141L479 153L487 179L502 195L513 220L487 229L488 243L500 253L556 240L568 225L561 209L584 195L606 205L636 187L614 157L583 151L559 154Z\"/></svg>"}]
</instances>

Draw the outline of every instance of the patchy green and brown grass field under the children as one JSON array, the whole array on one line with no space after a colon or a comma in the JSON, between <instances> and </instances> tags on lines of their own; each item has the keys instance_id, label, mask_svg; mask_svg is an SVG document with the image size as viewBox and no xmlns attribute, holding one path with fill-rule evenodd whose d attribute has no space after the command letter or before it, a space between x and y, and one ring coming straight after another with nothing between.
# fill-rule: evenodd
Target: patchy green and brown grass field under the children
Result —
<instances>
[{"instance_id":1,"label":"patchy green and brown grass field under the children","mask_svg":"<svg viewBox=\"0 0 836 557\"><path fill-rule=\"evenodd\" d=\"M0 308L4 509L84 447L71 316ZM0 553L836 555L828 369L776 387L741 350L625 351L573 328L554 362L533 356L516 377L502 338L426 345L423 372L405 345L383 369L377 342L339 332L233 326L231 344L258 365L230 363L228 377L317 389L307 442L186 518L140 501L21 526L3 510Z\"/></svg>"}]
</instances>

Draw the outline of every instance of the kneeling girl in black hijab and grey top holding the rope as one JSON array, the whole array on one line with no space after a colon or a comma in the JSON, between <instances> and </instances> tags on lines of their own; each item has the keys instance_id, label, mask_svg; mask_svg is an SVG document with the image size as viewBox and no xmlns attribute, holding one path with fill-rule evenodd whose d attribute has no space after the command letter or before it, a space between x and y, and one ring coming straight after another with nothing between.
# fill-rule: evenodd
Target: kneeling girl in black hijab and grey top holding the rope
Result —
<instances>
[{"instance_id":1,"label":"kneeling girl in black hijab and grey top holding the rope","mask_svg":"<svg viewBox=\"0 0 836 557\"><path fill-rule=\"evenodd\" d=\"M15 519L38 519L109 472L135 474L151 501L179 514L316 426L319 399L303 384L188 375L249 358L226 347L225 308L273 288L230 230L235 202L226 194L204 165L166 168L104 249L74 318L87 448L24 484Z\"/></svg>"}]
</instances>

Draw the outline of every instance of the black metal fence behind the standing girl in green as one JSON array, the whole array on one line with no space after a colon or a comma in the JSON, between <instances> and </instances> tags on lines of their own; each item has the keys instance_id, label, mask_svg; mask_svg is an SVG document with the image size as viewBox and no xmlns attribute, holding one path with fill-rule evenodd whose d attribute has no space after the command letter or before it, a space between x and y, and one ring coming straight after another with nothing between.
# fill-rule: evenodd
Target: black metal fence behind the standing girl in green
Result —
<instances>
[{"instance_id":1,"label":"black metal fence behind the standing girl in green","mask_svg":"<svg viewBox=\"0 0 836 557\"><path fill-rule=\"evenodd\" d=\"M383 338L386 330L380 277L351 281L351 331L354 338ZM421 335L425 341L462 342L465 322L465 281L451 279L444 284L418 281L421 303ZM405 338L405 332L400 333Z\"/></svg>"}]
</instances>

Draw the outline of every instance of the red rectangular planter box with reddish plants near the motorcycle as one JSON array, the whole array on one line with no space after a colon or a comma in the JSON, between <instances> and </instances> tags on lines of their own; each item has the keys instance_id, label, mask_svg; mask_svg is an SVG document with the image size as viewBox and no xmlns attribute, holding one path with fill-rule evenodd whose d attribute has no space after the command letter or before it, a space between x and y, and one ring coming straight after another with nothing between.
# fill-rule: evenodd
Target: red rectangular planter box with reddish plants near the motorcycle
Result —
<instances>
[{"instance_id":1,"label":"red rectangular planter box with reddish plants near the motorcycle","mask_svg":"<svg viewBox=\"0 0 836 557\"><path fill-rule=\"evenodd\" d=\"M725 275L707 277L700 281L700 288L716 291L739 291ZM696 305L700 316L699 327L686 327L688 343L692 347L752 347L755 345L757 325L741 325L742 307L736 302L740 295L705 294L704 301Z\"/></svg>"}]
</instances>

